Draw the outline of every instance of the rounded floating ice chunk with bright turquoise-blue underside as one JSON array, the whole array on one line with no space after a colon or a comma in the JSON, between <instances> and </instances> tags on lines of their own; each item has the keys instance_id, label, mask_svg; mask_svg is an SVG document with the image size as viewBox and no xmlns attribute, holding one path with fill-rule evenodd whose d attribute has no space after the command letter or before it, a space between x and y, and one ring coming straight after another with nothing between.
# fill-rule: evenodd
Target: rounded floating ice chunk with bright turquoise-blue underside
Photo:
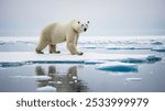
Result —
<instances>
[{"instance_id":1,"label":"rounded floating ice chunk with bright turquoise-blue underside","mask_svg":"<svg viewBox=\"0 0 165 111\"><path fill-rule=\"evenodd\" d=\"M100 64L96 67L96 69L103 71L138 71L138 65L135 64L125 64L120 62L109 62L105 64Z\"/></svg>"}]
</instances>

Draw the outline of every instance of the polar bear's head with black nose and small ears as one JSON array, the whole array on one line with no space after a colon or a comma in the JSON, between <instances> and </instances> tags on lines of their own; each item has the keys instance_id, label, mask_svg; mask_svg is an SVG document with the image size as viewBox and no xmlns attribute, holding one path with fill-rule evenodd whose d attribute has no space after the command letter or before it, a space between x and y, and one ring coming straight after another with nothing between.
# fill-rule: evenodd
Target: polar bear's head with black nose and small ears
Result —
<instances>
[{"instance_id":1,"label":"polar bear's head with black nose and small ears","mask_svg":"<svg viewBox=\"0 0 165 111\"><path fill-rule=\"evenodd\" d=\"M88 30L89 21L80 22L80 21L77 21L77 20L73 20L72 24L73 24L73 29L76 32L81 33L81 32L86 32Z\"/></svg>"}]
</instances>

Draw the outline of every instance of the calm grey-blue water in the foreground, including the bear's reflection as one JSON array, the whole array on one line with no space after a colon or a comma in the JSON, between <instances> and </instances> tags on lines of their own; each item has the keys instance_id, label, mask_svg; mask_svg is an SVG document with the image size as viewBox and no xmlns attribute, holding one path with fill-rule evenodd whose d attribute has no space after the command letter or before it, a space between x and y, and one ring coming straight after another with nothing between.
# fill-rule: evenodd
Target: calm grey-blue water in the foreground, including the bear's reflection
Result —
<instances>
[{"instance_id":1,"label":"calm grey-blue water in the foreground, including the bear's reflection","mask_svg":"<svg viewBox=\"0 0 165 111\"><path fill-rule=\"evenodd\" d=\"M78 64L40 64L1 68L0 91L37 91L52 86L59 92L165 91L164 63L143 64L138 73L107 73ZM48 80L28 78L48 76ZM127 80L127 78L142 78ZM43 90L44 91L44 90Z\"/></svg>"}]
</instances>

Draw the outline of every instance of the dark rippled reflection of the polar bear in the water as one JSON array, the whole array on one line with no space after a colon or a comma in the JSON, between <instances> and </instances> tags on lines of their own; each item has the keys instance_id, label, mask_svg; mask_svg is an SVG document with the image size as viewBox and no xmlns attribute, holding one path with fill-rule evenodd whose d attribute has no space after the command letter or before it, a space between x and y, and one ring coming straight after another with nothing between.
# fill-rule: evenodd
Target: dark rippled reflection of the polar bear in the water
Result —
<instances>
[{"instance_id":1,"label":"dark rippled reflection of the polar bear in the water","mask_svg":"<svg viewBox=\"0 0 165 111\"><path fill-rule=\"evenodd\" d=\"M86 92L88 91L87 86L84 85L82 80L78 79L77 66L69 66L66 74L62 75L61 70L56 66L47 67L35 67L36 76L48 76L52 79L48 80L37 80L37 87L46 87L52 86L57 88L58 92ZM47 71L45 71L47 70ZM63 70L64 71L64 70ZM47 75L48 74L48 75Z\"/></svg>"}]
</instances>

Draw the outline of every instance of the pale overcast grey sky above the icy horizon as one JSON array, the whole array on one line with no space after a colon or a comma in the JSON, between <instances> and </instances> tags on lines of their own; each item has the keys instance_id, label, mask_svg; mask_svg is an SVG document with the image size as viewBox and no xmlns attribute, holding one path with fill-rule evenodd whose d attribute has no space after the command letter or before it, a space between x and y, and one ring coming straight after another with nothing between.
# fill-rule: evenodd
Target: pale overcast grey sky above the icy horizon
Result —
<instances>
[{"instance_id":1,"label":"pale overcast grey sky above the icy horizon","mask_svg":"<svg viewBox=\"0 0 165 111\"><path fill-rule=\"evenodd\" d=\"M40 35L51 22L90 21L85 35L165 35L165 0L0 0L0 35Z\"/></svg>"}]
</instances>

